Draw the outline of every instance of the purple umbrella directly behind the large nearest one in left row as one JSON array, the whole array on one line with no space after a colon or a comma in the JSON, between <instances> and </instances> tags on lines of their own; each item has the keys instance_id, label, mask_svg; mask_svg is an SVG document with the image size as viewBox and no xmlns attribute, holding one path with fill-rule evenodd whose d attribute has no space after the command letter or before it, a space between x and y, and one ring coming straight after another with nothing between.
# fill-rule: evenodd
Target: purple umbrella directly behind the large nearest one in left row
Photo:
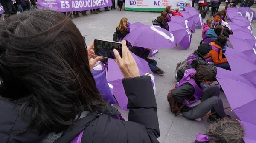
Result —
<instances>
[{"instance_id":1,"label":"purple umbrella directly behind the large nearest one in left row","mask_svg":"<svg viewBox=\"0 0 256 143\"><path fill-rule=\"evenodd\" d=\"M172 16L171 21L168 22L169 31L177 39L177 43L183 48L187 49L191 43L191 31L189 30L189 22L180 16Z\"/></svg>"}]
</instances>

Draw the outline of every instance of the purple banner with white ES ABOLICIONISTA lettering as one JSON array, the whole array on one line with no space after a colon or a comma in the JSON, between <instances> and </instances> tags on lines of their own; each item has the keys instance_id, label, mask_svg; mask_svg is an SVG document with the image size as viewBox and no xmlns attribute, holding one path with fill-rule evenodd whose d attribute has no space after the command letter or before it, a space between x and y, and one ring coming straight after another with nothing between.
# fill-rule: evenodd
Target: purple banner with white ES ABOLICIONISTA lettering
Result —
<instances>
[{"instance_id":1,"label":"purple banner with white ES ABOLICIONISTA lettering","mask_svg":"<svg viewBox=\"0 0 256 143\"><path fill-rule=\"evenodd\" d=\"M111 0L38 0L37 2L38 9L52 9L59 12L85 11L112 6Z\"/></svg>"}]
</instances>

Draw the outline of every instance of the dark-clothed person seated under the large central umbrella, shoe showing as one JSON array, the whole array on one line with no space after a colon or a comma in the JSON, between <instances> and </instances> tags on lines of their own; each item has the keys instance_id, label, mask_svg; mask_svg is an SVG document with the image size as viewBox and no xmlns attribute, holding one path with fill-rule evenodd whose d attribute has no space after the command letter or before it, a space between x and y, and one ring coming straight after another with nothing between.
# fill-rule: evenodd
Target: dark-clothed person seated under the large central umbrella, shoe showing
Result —
<instances>
[{"instance_id":1,"label":"dark-clothed person seated under the large central umbrella, shoe showing","mask_svg":"<svg viewBox=\"0 0 256 143\"><path fill-rule=\"evenodd\" d=\"M160 76L163 76L165 72L161 70L159 67L157 67L157 61L154 59L148 59L148 55L150 53L151 49L143 48L143 47L131 47L129 49L132 53L134 53L136 56L148 60L148 66L150 70L154 73L158 73Z\"/></svg>"}]
</instances>

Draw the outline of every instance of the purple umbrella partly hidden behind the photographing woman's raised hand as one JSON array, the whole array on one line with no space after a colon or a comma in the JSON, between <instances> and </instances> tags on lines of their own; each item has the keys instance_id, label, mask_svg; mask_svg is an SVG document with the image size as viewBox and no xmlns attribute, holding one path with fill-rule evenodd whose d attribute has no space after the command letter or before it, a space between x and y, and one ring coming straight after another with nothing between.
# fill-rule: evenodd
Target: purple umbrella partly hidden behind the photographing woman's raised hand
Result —
<instances>
[{"instance_id":1,"label":"purple umbrella partly hidden behind the photographing woman's raised hand","mask_svg":"<svg viewBox=\"0 0 256 143\"><path fill-rule=\"evenodd\" d=\"M134 57L140 71L140 76L145 75L146 73L151 73L151 70L148 66L148 62L140 57L131 53ZM152 73L153 74L153 73ZM122 84L122 79L124 76L119 70L118 64L113 59L108 59L108 75L107 81L114 87L114 96L121 109L127 110L127 101L128 98L125 95L125 90Z\"/></svg>"}]
</instances>

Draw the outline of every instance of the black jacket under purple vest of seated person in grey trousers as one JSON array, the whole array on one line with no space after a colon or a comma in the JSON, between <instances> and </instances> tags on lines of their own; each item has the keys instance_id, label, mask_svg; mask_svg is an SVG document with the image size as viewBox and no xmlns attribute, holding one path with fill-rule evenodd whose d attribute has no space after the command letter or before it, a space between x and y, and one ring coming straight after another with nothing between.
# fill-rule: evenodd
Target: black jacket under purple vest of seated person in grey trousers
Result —
<instances>
[{"instance_id":1,"label":"black jacket under purple vest of seated person in grey trousers","mask_svg":"<svg viewBox=\"0 0 256 143\"><path fill-rule=\"evenodd\" d=\"M183 73L183 75L184 75L184 73ZM195 77L192 77L192 78L195 79ZM195 79L195 82L198 85L198 87L201 88L200 82L197 79ZM183 105L182 102L184 101L184 98L189 99L191 96L193 96L194 93L195 93L195 89L194 89L193 85L190 83L184 83L183 85L181 85L180 87L178 87L172 91L172 98L176 102L178 102L180 106L182 106ZM194 100L194 98L192 98L191 101L193 101L193 100ZM181 109L181 112L188 112L189 110L191 110L191 109L184 106Z\"/></svg>"}]
</instances>

